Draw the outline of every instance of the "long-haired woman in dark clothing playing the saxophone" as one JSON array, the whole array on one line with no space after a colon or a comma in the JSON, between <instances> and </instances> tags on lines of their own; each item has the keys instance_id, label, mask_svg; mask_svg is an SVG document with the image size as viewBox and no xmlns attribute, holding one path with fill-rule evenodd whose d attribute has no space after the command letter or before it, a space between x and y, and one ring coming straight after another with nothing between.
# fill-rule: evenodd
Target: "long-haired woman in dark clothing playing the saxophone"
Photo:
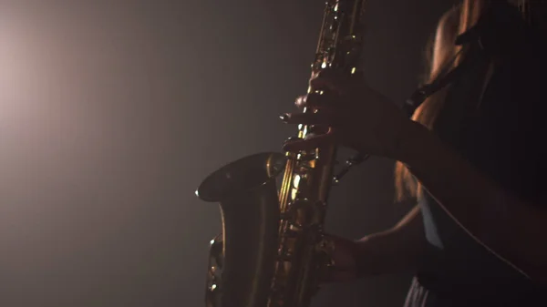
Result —
<instances>
[{"instance_id":1,"label":"long-haired woman in dark clothing playing the saxophone","mask_svg":"<svg viewBox=\"0 0 547 307\"><path fill-rule=\"evenodd\" d=\"M407 306L547 304L540 6L464 0L444 15L428 82L447 86L412 118L361 77L325 70L312 78L311 87L327 94L296 104L319 112L284 119L331 129L284 148L335 141L396 159L399 196L418 200L391 230L357 241L334 237L333 280L412 269Z\"/></svg>"}]
</instances>

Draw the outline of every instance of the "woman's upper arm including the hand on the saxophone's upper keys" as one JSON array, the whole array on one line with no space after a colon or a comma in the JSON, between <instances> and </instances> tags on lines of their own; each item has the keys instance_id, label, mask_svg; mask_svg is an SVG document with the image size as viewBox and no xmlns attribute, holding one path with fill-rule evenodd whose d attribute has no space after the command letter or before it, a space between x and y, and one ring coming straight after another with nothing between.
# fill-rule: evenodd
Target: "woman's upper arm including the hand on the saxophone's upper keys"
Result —
<instances>
[{"instance_id":1,"label":"woman's upper arm including the hand on the saxophone's upper keys","mask_svg":"<svg viewBox=\"0 0 547 307\"><path fill-rule=\"evenodd\" d=\"M450 35L457 28L457 19L444 20L447 26L439 28L436 46L447 41L453 47ZM435 51L436 56L441 50ZM347 76L343 71L326 68L310 80L310 89L310 94L299 97L296 105L318 112L285 114L281 118L289 124L331 129L326 134L288 141L284 150L311 150L335 141L362 153L397 159L471 236L535 279L547 279L547 242L542 237L547 233L545 210L501 189L428 128L409 120L387 97L368 87L361 74ZM323 95L324 91L328 94ZM492 213L491 209L499 211ZM381 237L378 235L378 242ZM373 240L376 238L368 241Z\"/></svg>"}]
</instances>

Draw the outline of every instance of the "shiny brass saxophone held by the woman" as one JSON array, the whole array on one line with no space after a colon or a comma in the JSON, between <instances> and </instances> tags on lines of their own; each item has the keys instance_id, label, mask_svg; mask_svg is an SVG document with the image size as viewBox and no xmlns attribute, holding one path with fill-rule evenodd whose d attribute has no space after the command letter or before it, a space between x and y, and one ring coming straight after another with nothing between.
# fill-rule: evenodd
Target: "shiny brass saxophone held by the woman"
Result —
<instances>
[{"instance_id":1,"label":"shiny brass saxophone held by the woman","mask_svg":"<svg viewBox=\"0 0 547 307\"><path fill-rule=\"evenodd\" d=\"M313 76L327 67L356 73L365 2L326 1ZM321 129L300 125L297 138ZM329 256L333 244L324 232L335 159L335 144L298 153L258 153L227 164L201 182L196 195L219 203L222 215L222 233L210 246L207 307L311 304L335 265Z\"/></svg>"}]
</instances>

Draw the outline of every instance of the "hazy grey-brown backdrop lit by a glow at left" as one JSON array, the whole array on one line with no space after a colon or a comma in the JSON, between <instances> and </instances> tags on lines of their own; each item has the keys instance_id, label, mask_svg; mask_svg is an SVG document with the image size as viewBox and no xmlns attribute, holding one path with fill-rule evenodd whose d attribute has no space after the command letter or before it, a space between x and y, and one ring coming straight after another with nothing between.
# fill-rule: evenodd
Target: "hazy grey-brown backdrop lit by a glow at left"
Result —
<instances>
[{"instance_id":1,"label":"hazy grey-brown backdrop lit by a glow at left","mask_svg":"<svg viewBox=\"0 0 547 307\"><path fill-rule=\"evenodd\" d=\"M402 101L454 1L370 0L363 69ZM207 174L295 130L317 0L3 1L0 7L0 305L203 306L214 204ZM332 193L327 230L384 230L393 161ZM314 306L400 306L409 275L326 286Z\"/></svg>"}]
</instances>

